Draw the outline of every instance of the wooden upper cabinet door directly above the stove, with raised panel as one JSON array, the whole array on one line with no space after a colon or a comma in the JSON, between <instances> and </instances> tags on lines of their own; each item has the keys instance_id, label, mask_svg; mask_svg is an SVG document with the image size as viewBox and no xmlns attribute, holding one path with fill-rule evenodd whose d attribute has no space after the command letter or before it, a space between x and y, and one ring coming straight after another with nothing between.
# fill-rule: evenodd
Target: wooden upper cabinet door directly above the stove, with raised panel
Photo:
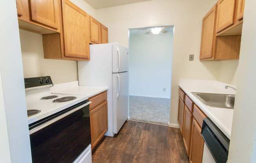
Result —
<instances>
[{"instance_id":1,"label":"wooden upper cabinet door directly above the stove, with raised panel","mask_svg":"<svg viewBox=\"0 0 256 163\"><path fill-rule=\"evenodd\" d=\"M58 28L57 0L30 0L32 20Z\"/></svg>"}]
</instances>

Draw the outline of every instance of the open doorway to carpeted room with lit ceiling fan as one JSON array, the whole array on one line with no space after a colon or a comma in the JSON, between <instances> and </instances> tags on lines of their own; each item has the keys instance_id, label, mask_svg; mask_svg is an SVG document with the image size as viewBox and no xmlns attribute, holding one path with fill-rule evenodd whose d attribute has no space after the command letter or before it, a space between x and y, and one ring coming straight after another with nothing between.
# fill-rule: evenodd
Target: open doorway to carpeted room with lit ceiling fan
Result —
<instances>
[{"instance_id":1,"label":"open doorway to carpeted room with lit ceiling fan","mask_svg":"<svg viewBox=\"0 0 256 163\"><path fill-rule=\"evenodd\" d=\"M168 125L174 26L129 29L130 120Z\"/></svg>"}]
</instances>

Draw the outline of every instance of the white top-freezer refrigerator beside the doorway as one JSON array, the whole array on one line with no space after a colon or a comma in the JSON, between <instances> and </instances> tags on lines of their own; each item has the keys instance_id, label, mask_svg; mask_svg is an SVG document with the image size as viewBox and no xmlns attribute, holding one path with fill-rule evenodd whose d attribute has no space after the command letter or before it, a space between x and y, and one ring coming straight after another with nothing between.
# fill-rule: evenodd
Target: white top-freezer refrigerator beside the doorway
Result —
<instances>
[{"instance_id":1,"label":"white top-freezer refrigerator beside the doorway","mask_svg":"<svg viewBox=\"0 0 256 163\"><path fill-rule=\"evenodd\" d=\"M90 45L90 61L78 62L79 85L108 87L108 132L114 136L128 119L128 49L118 43Z\"/></svg>"}]
</instances>

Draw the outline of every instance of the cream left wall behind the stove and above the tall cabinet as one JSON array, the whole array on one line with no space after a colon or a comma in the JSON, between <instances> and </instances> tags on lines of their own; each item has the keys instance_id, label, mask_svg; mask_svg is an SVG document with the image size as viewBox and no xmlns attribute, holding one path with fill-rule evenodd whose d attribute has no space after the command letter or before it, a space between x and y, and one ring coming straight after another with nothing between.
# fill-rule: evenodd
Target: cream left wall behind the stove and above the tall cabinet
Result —
<instances>
[{"instance_id":1,"label":"cream left wall behind the stove and above the tall cabinet","mask_svg":"<svg viewBox=\"0 0 256 163\"><path fill-rule=\"evenodd\" d=\"M84 0L71 2L96 17L96 10ZM76 61L44 59L42 35L20 30L20 42L25 78L49 75L54 84L78 80Z\"/></svg>"}]
</instances>

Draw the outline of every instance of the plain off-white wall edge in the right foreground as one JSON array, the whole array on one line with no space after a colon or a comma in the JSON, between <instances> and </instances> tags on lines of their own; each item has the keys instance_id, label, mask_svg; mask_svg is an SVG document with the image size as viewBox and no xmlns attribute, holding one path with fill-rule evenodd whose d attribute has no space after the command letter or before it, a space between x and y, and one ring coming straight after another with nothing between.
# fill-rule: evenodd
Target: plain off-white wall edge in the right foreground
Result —
<instances>
[{"instance_id":1,"label":"plain off-white wall edge in the right foreground","mask_svg":"<svg viewBox=\"0 0 256 163\"><path fill-rule=\"evenodd\" d=\"M245 0L229 163L256 162L256 1Z\"/></svg>"}]
</instances>

